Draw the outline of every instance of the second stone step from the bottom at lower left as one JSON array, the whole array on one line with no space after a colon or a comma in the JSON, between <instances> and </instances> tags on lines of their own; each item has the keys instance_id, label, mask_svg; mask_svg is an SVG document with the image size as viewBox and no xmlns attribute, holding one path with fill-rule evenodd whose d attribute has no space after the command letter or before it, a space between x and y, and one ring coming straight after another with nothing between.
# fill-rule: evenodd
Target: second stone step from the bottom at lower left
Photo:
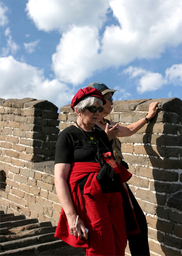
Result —
<instances>
[{"instance_id":1,"label":"second stone step from the bottom at lower left","mask_svg":"<svg viewBox=\"0 0 182 256\"><path fill-rule=\"evenodd\" d=\"M40 236L26 237L14 241L1 242L0 249L1 252L5 250L11 250L16 248L26 247L26 245L41 244L44 242L56 241L58 238L54 237L54 233L43 234Z\"/></svg>"}]
</instances>

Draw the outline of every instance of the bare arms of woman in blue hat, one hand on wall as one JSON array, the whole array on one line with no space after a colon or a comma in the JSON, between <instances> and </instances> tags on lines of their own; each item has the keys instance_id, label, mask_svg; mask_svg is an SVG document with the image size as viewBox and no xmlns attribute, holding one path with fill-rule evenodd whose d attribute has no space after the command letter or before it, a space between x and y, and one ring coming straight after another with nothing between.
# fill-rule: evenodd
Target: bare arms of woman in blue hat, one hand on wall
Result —
<instances>
[{"instance_id":1,"label":"bare arms of woman in blue hat, one hand on wall","mask_svg":"<svg viewBox=\"0 0 182 256\"><path fill-rule=\"evenodd\" d=\"M159 109L157 107L158 103L159 102L155 101L150 104L149 112L146 116L147 119L150 120L151 118L153 118L155 116L155 114L157 113L157 110ZM138 120L137 122L130 124L128 126L116 124L113 121L110 121L110 123L112 125L114 125L114 127L112 127L111 129L108 130L108 126L106 126L105 132L107 133L109 139L111 140L112 138L114 138L114 136L118 136L118 137L131 136L132 134L137 132L139 129L141 129L147 123L147 121L145 120L145 118L142 118L142 119ZM118 129L116 129L116 127L118 127Z\"/></svg>"}]
</instances>

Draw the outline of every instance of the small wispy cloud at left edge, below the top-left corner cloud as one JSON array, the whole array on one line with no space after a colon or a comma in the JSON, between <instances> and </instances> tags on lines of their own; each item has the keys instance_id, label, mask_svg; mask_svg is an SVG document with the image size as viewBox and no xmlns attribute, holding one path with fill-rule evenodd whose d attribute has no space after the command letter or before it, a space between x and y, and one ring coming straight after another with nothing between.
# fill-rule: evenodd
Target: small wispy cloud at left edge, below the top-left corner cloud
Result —
<instances>
[{"instance_id":1,"label":"small wispy cloud at left edge, below the top-left corner cloud","mask_svg":"<svg viewBox=\"0 0 182 256\"><path fill-rule=\"evenodd\" d=\"M7 44L6 47L3 47L1 50L2 56L8 56L9 53L15 55L20 46L13 41L9 27L7 27L4 34L7 37Z\"/></svg>"}]
</instances>

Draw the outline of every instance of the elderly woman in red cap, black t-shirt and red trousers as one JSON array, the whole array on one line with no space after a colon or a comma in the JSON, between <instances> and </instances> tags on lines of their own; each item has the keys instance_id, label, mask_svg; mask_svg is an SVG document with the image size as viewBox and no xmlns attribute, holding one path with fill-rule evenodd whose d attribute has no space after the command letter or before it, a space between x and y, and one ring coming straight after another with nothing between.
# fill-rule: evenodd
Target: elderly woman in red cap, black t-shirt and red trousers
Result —
<instances>
[{"instance_id":1,"label":"elderly woman in red cap, black t-shirt and red trousers","mask_svg":"<svg viewBox=\"0 0 182 256\"><path fill-rule=\"evenodd\" d=\"M94 128L105 103L99 90L80 89L71 102L76 124L56 143L55 187L62 211L55 237L83 247L86 255L124 255L127 244L120 187L131 174L114 161L107 134ZM102 163L112 166L104 176ZM136 221L133 229L138 232Z\"/></svg>"}]
</instances>

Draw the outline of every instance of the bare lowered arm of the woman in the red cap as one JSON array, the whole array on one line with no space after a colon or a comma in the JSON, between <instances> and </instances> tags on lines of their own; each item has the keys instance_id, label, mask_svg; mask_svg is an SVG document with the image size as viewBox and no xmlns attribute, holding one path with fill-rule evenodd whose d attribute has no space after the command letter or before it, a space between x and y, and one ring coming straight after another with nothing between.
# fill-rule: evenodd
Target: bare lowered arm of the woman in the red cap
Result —
<instances>
[{"instance_id":1,"label":"bare lowered arm of the woman in the red cap","mask_svg":"<svg viewBox=\"0 0 182 256\"><path fill-rule=\"evenodd\" d=\"M74 233L76 227L76 211L74 209L70 190L67 184L68 174L70 172L70 163L56 163L54 167L54 175L55 175L55 187L56 193L58 195L60 204L62 205L64 212L66 214L68 225L70 227L70 232ZM84 237L87 239L87 232L85 230L85 226L83 221L78 218L77 229L74 236L78 236L82 238L81 230L84 233Z\"/></svg>"}]
</instances>

